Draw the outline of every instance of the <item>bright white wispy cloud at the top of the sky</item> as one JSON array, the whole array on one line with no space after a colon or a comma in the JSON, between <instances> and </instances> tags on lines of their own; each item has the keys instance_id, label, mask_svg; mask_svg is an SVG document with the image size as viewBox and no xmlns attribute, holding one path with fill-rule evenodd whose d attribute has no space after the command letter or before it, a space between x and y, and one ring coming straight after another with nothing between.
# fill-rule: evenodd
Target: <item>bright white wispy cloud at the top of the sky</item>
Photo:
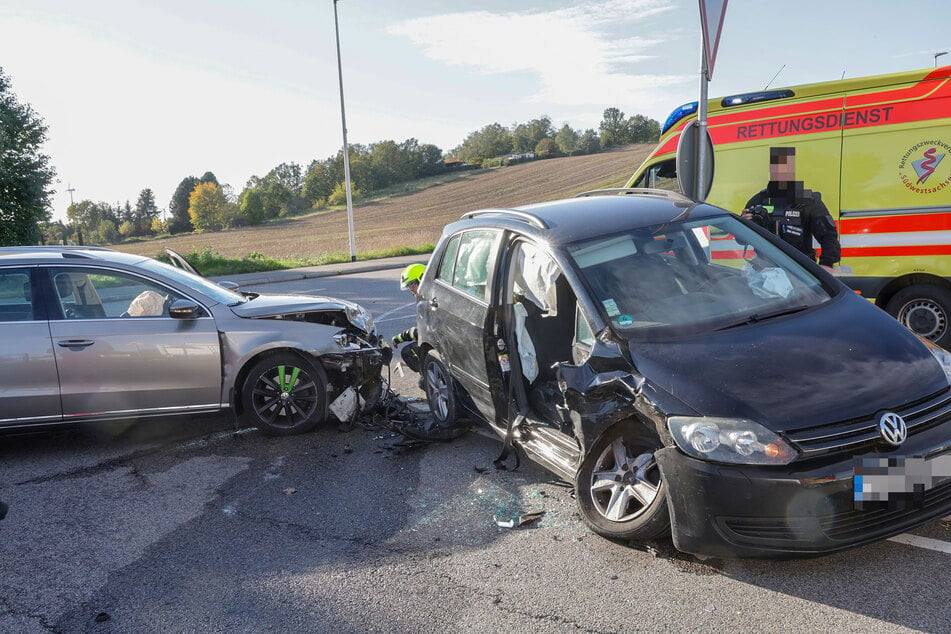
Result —
<instances>
[{"instance_id":1,"label":"bright white wispy cloud at the top of the sky","mask_svg":"<svg viewBox=\"0 0 951 634\"><path fill-rule=\"evenodd\" d=\"M647 93L691 79L634 70L650 68L667 41L643 22L674 8L669 0L607 0L553 11L473 11L408 20L389 32L446 65L533 75L537 83L525 86L524 102L646 104ZM643 34L614 35L636 33L638 23Z\"/></svg>"}]
</instances>

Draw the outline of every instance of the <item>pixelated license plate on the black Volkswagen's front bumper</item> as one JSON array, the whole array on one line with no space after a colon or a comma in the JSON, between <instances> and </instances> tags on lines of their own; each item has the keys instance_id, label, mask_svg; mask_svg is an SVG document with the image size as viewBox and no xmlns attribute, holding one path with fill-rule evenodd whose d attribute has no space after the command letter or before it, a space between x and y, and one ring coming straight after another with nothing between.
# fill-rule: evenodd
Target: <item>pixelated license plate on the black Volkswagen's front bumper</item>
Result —
<instances>
[{"instance_id":1,"label":"pixelated license plate on the black Volkswagen's front bumper","mask_svg":"<svg viewBox=\"0 0 951 634\"><path fill-rule=\"evenodd\" d=\"M855 508L921 508L925 492L948 479L951 454L856 458L852 477Z\"/></svg>"}]
</instances>

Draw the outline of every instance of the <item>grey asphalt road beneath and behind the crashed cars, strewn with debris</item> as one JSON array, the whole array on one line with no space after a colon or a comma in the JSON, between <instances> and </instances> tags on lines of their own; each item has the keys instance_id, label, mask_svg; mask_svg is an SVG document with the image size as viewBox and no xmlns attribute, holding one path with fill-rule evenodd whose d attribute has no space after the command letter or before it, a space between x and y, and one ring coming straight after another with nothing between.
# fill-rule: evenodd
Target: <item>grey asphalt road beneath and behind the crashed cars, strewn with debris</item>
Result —
<instances>
[{"instance_id":1,"label":"grey asphalt road beneath and behind the crashed cars, strewn with debris","mask_svg":"<svg viewBox=\"0 0 951 634\"><path fill-rule=\"evenodd\" d=\"M389 337L414 318L398 276L245 288L354 299ZM493 438L398 441L223 416L0 438L0 631L951 631L951 518L910 544L701 562L594 535L547 472L494 470Z\"/></svg>"}]
</instances>

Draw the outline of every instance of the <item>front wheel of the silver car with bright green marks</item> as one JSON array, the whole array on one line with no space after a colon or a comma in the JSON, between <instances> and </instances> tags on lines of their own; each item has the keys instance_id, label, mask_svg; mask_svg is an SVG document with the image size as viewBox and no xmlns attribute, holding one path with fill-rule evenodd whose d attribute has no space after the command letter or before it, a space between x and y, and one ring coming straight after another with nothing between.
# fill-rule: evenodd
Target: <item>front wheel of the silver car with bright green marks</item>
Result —
<instances>
[{"instance_id":1,"label":"front wheel of the silver car with bright green marks","mask_svg":"<svg viewBox=\"0 0 951 634\"><path fill-rule=\"evenodd\" d=\"M327 375L289 352L259 359L241 390L246 421L268 436L312 430L327 417Z\"/></svg>"}]
</instances>

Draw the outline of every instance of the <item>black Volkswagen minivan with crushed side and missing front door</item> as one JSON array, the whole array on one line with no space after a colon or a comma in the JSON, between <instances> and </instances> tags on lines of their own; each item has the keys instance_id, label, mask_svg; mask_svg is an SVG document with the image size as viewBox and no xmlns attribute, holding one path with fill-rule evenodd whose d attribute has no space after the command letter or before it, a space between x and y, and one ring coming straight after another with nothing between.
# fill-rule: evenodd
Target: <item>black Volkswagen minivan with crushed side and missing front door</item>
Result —
<instances>
[{"instance_id":1,"label":"black Volkswagen minivan with crushed side and missing front door","mask_svg":"<svg viewBox=\"0 0 951 634\"><path fill-rule=\"evenodd\" d=\"M723 209L605 190L470 212L419 292L436 421L573 482L601 535L785 557L951 512L951 355Z\"/></svg>"}]
</instances>

